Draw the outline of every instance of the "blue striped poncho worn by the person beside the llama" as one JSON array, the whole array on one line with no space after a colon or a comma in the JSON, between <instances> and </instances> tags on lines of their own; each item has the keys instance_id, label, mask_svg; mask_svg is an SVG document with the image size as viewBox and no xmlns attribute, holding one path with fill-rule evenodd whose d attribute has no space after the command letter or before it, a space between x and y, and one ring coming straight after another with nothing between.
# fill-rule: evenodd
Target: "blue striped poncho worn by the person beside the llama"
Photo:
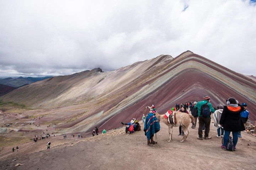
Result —
<instances>
[{"instance_id":1,"label":"blue striped poncho worn by the person beside the llama","mask_svg":"<svg viewBox=\"0 0 256 170\"><path fill-rule=\"evenodd\" d=\"M148 140L150 140L150 136L154 135L160 130L159 121L153 113L149 113L147 115L143 130Z\"/></svg>"}]
</instances>

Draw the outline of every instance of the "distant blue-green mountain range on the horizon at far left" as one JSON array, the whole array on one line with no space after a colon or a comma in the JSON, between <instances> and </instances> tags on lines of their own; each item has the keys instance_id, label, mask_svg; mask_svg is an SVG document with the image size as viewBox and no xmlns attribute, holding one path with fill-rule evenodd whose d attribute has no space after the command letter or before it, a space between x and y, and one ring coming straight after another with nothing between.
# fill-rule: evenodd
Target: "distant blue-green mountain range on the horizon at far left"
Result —
<instances>
[{"instance_id":1,"label":"distant blue-green mountain range on the horizon at far left","mask_svg":"<svg viewBox=\"0 0 256 170\"><path fill-rule=\"evenodd\" d=\"M5 78L5 79L0 79L0 84L6 85L6 86L11 86L11 87L21 87L27 84L34 83L36 81L41 81L44 79L48 79L51 77L18 77L18 78Z\"/></svg>"}]
</instances>

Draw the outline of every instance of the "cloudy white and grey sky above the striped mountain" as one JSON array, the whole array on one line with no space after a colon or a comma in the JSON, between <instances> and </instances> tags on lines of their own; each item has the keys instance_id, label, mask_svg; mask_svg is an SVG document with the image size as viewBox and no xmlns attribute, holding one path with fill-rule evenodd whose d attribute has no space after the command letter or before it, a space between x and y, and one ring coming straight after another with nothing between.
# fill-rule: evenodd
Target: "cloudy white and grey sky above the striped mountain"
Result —
<instances>
[{"instance_id":1,"label":"cloudy white and grey sky above the striped mountain","mask_svg":"<svg viewBox=\"0 0 256 170\"><path fill-rule=\"evenodd\" d=\"M255 75L255 0L0 0L0 77L111 71L190 50Z\"/></svg>"}]
</instances>

